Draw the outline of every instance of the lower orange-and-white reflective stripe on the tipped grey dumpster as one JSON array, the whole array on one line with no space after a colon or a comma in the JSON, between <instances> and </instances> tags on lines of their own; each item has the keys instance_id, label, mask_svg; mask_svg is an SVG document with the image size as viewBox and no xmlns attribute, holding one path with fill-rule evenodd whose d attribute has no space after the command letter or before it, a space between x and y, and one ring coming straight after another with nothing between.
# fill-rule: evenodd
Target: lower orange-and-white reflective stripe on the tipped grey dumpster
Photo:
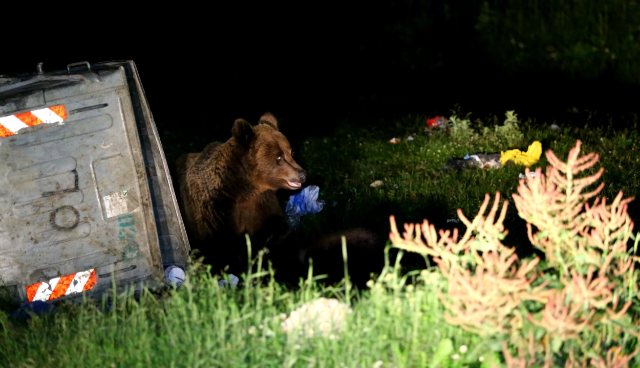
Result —
<instances>
[{"instance_id":1,"label":"lower orange-and-white reflective stripe on the tipped grey dumpster","mask_svg":"<svg viewBox=\"0 0 640 368\"><path fill-rule=\"evenodd\" d=\"M42 300L43 302L54 300L60 298L60 296L82 293L93 289L97 282L93 268L63 277L54 277L49 282L36 282L31 286L27 286L27 299L29 303L36 300Z\"/></svg>"}]
</instances>

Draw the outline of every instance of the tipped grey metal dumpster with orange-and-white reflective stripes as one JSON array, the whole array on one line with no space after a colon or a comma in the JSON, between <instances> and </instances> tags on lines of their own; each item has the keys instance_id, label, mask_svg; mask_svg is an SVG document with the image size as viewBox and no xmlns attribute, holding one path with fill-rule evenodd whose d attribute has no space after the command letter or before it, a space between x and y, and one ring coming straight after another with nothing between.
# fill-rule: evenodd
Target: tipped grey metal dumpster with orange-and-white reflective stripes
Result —
<instances>
[{"instance_id":1,"label":"tipped grey metal dumpster with orange-and-white reflective stripes","mask_svg":"<svg viewBox=\"0 0 640 368\"><path fill-rule=\"evenodd\" d=\"M188 253L132 61L0 75L0 287L20 303L97 296Z\"/></svg>"}]
</instances>

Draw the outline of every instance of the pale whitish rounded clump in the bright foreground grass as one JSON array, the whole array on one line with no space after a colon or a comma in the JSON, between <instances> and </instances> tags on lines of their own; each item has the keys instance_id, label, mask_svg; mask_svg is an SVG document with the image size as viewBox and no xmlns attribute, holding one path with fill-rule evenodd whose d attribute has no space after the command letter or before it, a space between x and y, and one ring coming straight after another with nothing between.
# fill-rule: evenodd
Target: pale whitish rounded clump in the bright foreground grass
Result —
<instances>
[{"instance_id":1,"label":"pale whitish rounded clump in the bright foreground grass","mask_svg":"<svg viewBox=\"0 0 640 368\"><path fill-rule=\"evenodd\" d=\"M317 298L291 312L280 327L290 337L312 338L320 335L332 340L339 339L338 334L346 327L348 313L351 313L351 309L346 303L335 298Z\"/></svg>"}]
</instances>

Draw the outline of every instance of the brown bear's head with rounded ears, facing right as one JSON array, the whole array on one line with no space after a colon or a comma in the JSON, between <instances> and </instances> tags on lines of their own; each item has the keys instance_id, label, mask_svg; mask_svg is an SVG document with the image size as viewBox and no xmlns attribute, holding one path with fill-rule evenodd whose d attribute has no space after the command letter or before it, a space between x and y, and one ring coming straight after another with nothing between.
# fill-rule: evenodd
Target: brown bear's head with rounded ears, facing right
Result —
<instances>
[{"instance_id":1,"label":"brown bear's head with rounded ears, facing right","mask_svg":"<svg viewBox=\"0 0 640 368\"><path fill-rule=\"evenodd\" d=\"M271 112L262 115L255 126L237 119L232 133L252 183L260 191L298 189L307 180L307 173L293 159L291 144L278 130L278 120Z\"/></svg>"}]
</instances>

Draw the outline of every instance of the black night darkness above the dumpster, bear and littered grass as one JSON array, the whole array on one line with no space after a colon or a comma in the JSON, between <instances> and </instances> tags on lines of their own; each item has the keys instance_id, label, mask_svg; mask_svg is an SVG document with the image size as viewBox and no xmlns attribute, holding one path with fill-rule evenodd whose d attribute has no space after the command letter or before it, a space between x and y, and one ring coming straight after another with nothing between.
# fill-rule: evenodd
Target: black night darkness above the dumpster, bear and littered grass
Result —
<instances>
[{"instance_id":1,"label":"black night darkness above the dumpster, bear and littered grass","mask_svg":"<svg viewBox=\"0 0 640 368\"><path fill-rule=\"evenodd\" d=\"M117 22L78 14L83 26L44 31L49 52L34 39L15 44L0 74L132 59L170 158L265 111L292 141L331 134L346 118L380 126L455 104L475 118L515 109L564 123L637 111L636 1L159 6Z\"/></svg>"}]
</instances>

